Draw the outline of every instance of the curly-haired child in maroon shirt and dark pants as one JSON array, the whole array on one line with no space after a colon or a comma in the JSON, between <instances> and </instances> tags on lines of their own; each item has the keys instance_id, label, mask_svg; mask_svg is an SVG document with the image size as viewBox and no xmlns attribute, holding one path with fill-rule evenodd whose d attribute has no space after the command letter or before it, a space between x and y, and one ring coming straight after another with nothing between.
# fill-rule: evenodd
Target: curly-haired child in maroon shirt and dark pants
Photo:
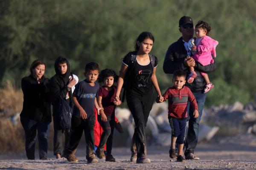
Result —
<instances>
[{"instance_id":1,"label":"curly-haired child in maroon shirt and dark pants","mask_svg":"<svg viewBox=\"0 0 256 170\"><path fill-rule=\"evenodd\" d=\"M103 81L104 85L99 88L98 103L99 106L104 109L99 112L98 122L103 129L103 133L95 153L99 159L105 158L106 161L116 161L112 156L111 151L113 132L116 125L115 108L116 105L121 105L121 101L114 101L116 96L116 86L114 86L113 83L117 80L117 75L112 69L106 68L101 71L100 80ZM107 144L106 156L104 154L105 144Z\"/></svg>"}]
</instances>

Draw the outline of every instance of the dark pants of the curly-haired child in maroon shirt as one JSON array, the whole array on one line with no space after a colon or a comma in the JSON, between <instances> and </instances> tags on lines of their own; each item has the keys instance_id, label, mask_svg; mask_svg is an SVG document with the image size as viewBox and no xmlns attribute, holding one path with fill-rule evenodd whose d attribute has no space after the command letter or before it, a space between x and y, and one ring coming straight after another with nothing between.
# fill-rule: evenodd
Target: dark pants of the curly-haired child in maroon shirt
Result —
<instances>
[{"instance_id":1,"label":"dark pants of the curly-haired child in maroon shirt","mask_svg":"<svg viewBox=\"0 0 256 170\"><path fill-rule=\"evenodd\" d=\"M103 150L105 144L107 144L107 155L111 155L112 151L112 144L113 144L113 134L114 134L114 127L115 127L115 114L111 116L107 116L107 122L103 122L101 120L100 115L98 116L98 122L103 129L102 136L99 141L99 150Z\"/></svg>"}]
</instances>

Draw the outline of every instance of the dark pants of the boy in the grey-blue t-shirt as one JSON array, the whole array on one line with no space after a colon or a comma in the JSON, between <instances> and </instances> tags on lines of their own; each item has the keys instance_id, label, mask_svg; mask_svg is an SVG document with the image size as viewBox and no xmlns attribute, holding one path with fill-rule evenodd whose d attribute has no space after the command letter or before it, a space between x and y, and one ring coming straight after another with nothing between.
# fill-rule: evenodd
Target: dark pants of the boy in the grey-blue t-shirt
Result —
<instances>
[{"instance_id":1,"label":"dark pants of the boy in the grey-blue t-shirt","mask_svg":"<svg viewBox=\"0 0 256 170\"><path fill-rule=\"evenodd\" d=\"M67 152L69 154L75 153L84 131L86 141L86 157L90 158L94 156L94 124L94 116L85 120L79 117L72 117L72 132L70 134L70 140L67 147Z\"/></svg>"}]
</instances>

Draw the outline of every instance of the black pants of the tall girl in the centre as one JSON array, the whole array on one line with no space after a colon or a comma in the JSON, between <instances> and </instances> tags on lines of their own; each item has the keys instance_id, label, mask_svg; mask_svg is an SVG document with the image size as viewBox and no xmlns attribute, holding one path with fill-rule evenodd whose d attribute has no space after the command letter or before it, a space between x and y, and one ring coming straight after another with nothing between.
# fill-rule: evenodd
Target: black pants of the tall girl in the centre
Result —
<instances>
[{"instance_id":1,"label":"black pants of the tall girl in the centre","mask_svg":"<svg viewBox=\"0 0 256 170\"><path fill-rule=\"evenodd\" d=\"M127 105L134 117L135 123L132 141L136 144L137 156L144 157L147 155L145 128L154 102L153 93L143 96L129 94L128 92L126 94ZM131 152L136 152L133 142L131 144Z\"/></svg>"}]
</instances>

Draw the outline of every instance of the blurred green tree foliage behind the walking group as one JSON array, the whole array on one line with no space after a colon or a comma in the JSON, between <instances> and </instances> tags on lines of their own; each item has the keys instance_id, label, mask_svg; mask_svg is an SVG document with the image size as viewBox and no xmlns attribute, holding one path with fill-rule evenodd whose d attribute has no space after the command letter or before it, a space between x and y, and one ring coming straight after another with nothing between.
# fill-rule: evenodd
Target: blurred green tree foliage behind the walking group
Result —
<instances>
[{"instance_id":1,"label":"blurred green tree foliage behind the walking group","mask_svg":"<svg viewBox=\"0 0 256 170\"><path fill-rule=\"evenodd\" d=\"M19 86L34 59L47 63L51 77L58 56L70 60L80 79L91 61L118 72L137 36L151 31L165 91L172 84L162 69L165 53L180 37L179 18L189 15L195 23L207 21L210 36L219 41L218 69L209 74L215 88L207 94L207 105L245 103L256 94L255 9L254 0L1 0L0 82L10 79Z\"/></svg>"}]
</instances>

